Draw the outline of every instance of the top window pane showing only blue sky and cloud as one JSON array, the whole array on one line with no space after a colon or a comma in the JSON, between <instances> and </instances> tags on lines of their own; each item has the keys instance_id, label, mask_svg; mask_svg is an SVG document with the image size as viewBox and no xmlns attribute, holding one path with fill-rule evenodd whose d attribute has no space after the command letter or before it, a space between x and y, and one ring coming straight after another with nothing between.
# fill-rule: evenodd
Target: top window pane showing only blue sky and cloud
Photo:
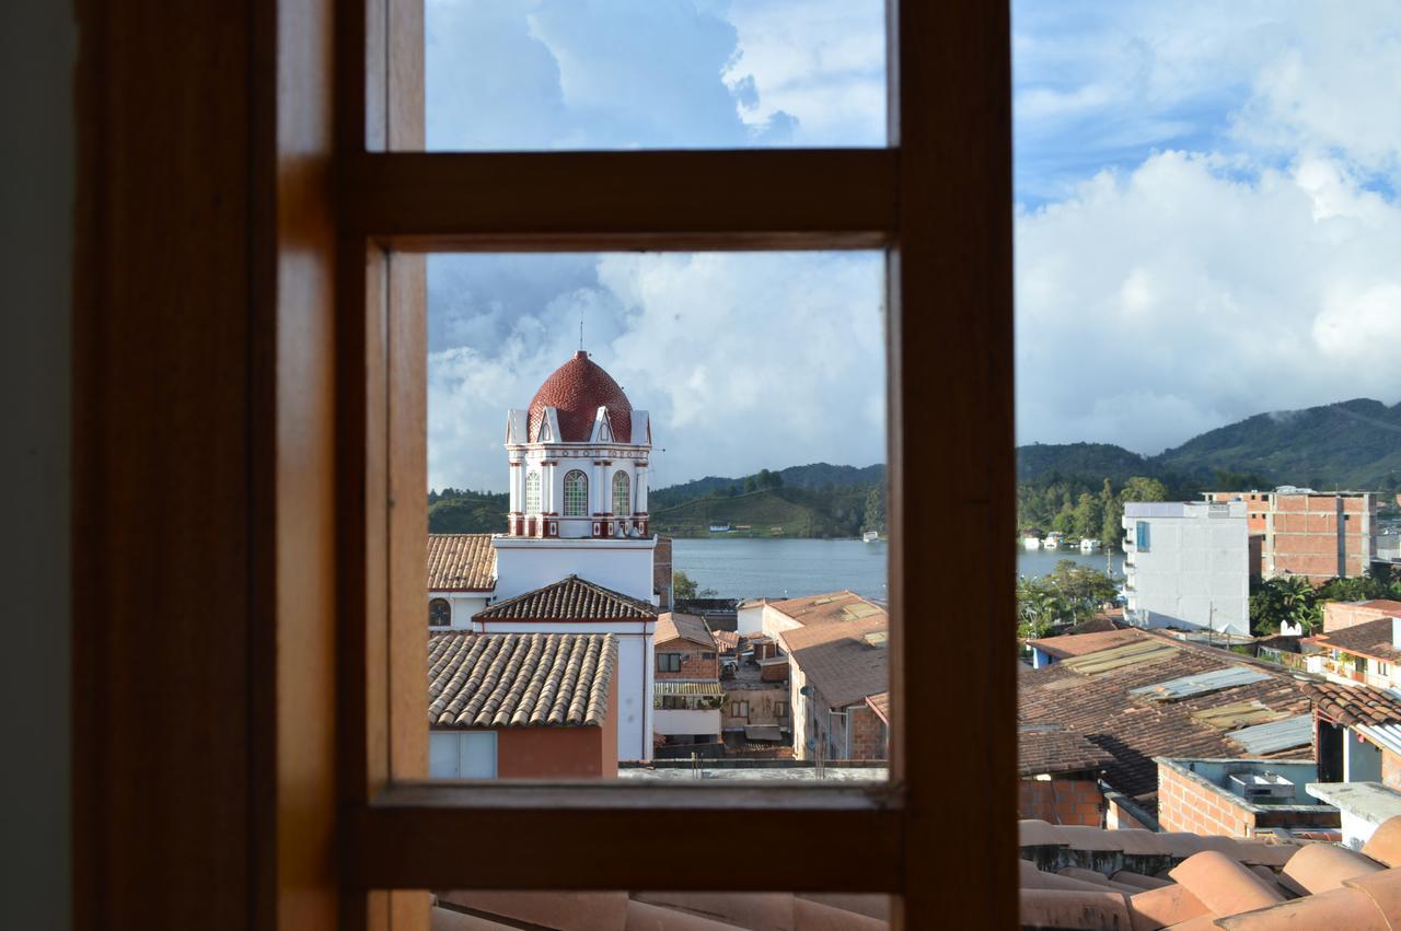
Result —
<instances>
[{"instance_id":1,"label":"top window pane showing only blue sky and cloud","mask_svg":"<svg viewBox=\"0 0 1401 931\"><path fill-rule=\"evenodd\" d=\"M881 0L426 0L427 148L885 144Z\"/></svg>"}]
</instances>

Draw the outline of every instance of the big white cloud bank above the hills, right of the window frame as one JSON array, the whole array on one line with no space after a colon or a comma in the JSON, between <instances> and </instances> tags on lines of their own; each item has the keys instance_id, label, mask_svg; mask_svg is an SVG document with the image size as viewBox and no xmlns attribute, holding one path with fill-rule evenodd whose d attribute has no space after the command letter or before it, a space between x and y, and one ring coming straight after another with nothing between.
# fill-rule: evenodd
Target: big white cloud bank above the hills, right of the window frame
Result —
<instances>
[{"instance_id":1,"label":"big white cloud bank above the hills, right of the window frame","mask_svg":"<svg viewBox=\"0 0 1401 931\"><path fill-rule=\"evenodd\" d=\"M1395 400L1401 206L1318 158L1163 153L1017 218L1023 442L1142 452L1261 410Z\"/></svg>"}]
</instances>

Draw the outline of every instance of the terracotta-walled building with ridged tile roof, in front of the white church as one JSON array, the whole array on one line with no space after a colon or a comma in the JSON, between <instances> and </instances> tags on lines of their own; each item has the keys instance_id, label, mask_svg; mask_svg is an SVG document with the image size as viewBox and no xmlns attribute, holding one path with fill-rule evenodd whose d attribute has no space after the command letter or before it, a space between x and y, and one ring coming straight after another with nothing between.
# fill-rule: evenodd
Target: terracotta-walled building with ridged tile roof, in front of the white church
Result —
<instances>
[{"instance_id":1,"label":"terracotta-walled building with ridged tile roof, in front of the white church","mask_svg":"<svg viewBox=\"0 0 1401 931\"><path fill-rule=\"evenodd\" d=\"M430 778L611 778L618 641L597 633L429 634Z\"/></svg>"}]
</instances>

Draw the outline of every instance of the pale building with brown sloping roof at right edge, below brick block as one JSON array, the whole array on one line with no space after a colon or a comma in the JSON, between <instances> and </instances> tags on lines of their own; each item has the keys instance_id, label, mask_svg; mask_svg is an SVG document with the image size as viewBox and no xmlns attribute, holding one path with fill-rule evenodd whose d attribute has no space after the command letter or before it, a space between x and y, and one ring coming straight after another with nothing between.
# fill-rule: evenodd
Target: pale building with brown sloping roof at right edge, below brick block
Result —
<instances>
[{"instance_id":1,"label":"pale building with brown sloping roof at right edge, below brick block","mask_svg":"<svg viewBox=\"0 0 1401 931\"><path fill-rule=\"evenodd\" d=\"M1307 669L1334 682L1401 686L1401 602L1328 602Z\"/></svg>"}]
</instances>

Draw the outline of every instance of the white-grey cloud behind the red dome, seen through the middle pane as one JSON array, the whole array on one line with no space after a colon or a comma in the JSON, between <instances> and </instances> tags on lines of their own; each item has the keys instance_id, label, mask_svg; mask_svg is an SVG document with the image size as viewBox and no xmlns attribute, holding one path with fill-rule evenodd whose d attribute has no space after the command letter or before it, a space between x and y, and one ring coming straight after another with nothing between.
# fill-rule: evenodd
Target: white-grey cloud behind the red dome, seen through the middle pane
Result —
<instances>
[{"instance_id":1,"label":"white-grey cloud behind the red dome, seen through the middle pane","mask_svg":"<svg viewBox=\"0 0 1401 931\"><path fill-rule=\"evenodd\" d=\"M497 256L439 258L460 280ZM588 284L429 356L430 487L506 487L506 410L584 346L651 412L656 487L885 458L884 263L873 253L518 256ZM563 266L559 272L555 266ZM430 318L446 297L430 286Z\"/></svg>"}]
</instances>

